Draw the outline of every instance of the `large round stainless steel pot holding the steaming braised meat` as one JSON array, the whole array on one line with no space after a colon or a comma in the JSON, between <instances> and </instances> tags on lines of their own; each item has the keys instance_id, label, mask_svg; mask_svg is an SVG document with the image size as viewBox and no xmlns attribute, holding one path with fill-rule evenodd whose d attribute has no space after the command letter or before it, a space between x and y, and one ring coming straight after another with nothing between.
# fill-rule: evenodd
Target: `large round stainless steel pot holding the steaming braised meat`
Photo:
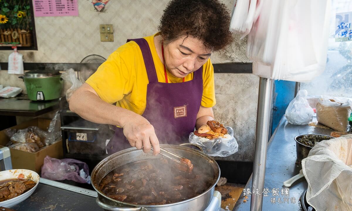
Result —
<instances>
[{"instance_id":1,"label":"large round stainless steel pot holding the steaming braised meat","mask_svg":"<svg viewBox=\"0 0 352 211\"><path fill-rule=\"evenodd\" d=\"M190 145L190 144L188 144ZM172 204L164 205L134 205L124 202L119 202L105 196L97 187L101 179L110 171L115 168L145 159L157 159L162 155L153 156L152 152L145 154L142 150L136 148L129 148L123 151L114 153L104 160L100 161L92 171L91 182L94 189L98 192L96 202L100 207L109 211L168 211L168 210L182 210L182 211L203 211L209 205L210 200L213 198L215 185L220 178L220 168L214 159L210 158L203 152L185 146L178 145L161 145L161 147L168 149L171 152L177 153L192 161L194 166L201 166L206 172L211 172L214 178L212 186L210 186L204 193Z\"/></svg>"}]
</instances>

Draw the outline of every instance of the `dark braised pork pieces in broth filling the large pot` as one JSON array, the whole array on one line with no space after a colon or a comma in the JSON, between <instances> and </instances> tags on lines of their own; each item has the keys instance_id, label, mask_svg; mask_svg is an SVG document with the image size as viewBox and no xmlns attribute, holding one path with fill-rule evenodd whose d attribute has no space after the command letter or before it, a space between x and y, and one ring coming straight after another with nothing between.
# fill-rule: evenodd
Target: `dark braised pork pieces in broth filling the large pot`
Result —
<instances>
[{"instance_id":1,"label":"dark braised pork pieces in broth filling the large pot","mask_svg":"<svg viewBox=\"0 0 352 211\"><path fill-rule=\"evenodd\" d=\"M148 159L122 165L100 181L108 197L139 205L180 202L205 192L213 183L212 172L201 166L185 171L171 160Z\"/></svg>"}]
</instances>

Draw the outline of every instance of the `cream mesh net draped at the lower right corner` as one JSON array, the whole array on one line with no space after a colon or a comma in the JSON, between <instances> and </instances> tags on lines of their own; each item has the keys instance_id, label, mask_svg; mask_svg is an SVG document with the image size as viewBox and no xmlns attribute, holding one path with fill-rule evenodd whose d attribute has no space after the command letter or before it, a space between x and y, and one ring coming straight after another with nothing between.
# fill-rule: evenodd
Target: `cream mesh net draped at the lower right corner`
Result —
<instances>
[{"instance_id":1,"label":"cream mesh net draped at the lower right corner","mask_svg":"<svg viewBox=\"0 0 352 211\"><path fill-rule=\"evenodd\" d=\"M318 142L302 160L307 202L316 211L352 211L352 135Z\"/></svg>"}]
</instances>

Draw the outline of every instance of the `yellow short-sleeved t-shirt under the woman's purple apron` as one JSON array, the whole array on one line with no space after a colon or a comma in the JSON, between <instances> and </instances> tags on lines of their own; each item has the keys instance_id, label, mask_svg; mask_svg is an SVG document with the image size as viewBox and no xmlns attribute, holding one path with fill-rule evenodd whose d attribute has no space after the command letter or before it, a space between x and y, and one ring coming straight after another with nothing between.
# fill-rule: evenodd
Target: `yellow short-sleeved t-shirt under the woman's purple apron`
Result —
<instances>
[{"instance_id":1,"label":"yellow short-sleeved t-shirt under the woman's purple apron","mask_svg":"<svg viewBox=\"0 0 352 211\"><path fill-rule=\"evenodd\" d=\"M158 57L154 45L154 34L145 37L147 40L158 82L165 83L164 65ZM182 78L177 78L167 71L169 83L182 82ZM193 79L193 73L185 77L185 81ZM98 70L90 76L87 81L107 103L116 103L116 106L134 111L142 115L146 107L147 84L149 83L144 65L142 51L137 43L130 41L120 46L108 59L99 66ZM213 107L215 105L214 90L214 69L210 58L203 65L203 95L201 105Z\"/></svg>"}]
</instances>

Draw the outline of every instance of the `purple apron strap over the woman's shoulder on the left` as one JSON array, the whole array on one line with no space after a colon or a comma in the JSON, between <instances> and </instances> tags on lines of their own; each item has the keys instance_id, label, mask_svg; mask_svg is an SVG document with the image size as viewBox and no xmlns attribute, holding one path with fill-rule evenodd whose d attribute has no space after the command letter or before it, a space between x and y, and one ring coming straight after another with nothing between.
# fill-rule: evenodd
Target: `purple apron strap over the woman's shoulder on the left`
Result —
<instances>
[{"instance_id":1,"label":"purple apron strap over the woman's shoulder on the left","mask_svg":"<svg viewBox=\"0 0 352 211\"><path fill-rule=\"evenodd\" d=\"M145 69L147 70L149 83L157 83L158 77L156 75L152 53L150 52L150 47L147 40L145 40L144 38L138 38L128 39L127 42L129 41L135 41L138 44L140 50L142 51L142 56L144 60Z\"/></svg>"}]
</instances>

